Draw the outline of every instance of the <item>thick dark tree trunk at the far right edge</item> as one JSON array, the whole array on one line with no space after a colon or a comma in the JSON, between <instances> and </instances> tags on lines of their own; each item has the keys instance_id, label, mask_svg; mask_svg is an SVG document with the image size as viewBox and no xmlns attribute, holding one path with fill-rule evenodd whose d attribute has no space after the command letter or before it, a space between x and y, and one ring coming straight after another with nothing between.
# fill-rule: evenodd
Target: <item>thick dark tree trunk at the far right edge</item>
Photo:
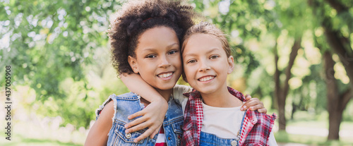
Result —
<instances>
[{"instance_id":1,"label":"thick dark tree trunk at the far right edge","mask_svg":"<svg viewBox=\"0 0 353 146\"><path fill-rule=\"evenodd\" d=\"M349 8L343 5L340 1L335 0L325 0L332 8L337 11L337 16L342 13L347 13ZM319 2L314 0L308 0L309 6L313 8L313 15L316 15L316 8L320 8ZM325 13L325 10L321 11ZM323 54L323 60L325 62L325 75L328 93L328 113L329 113L329 128L328 128L328 140L339 140L340 135L340 123L342 121L342 112L344 111L349 99L352 98L351 89L353 88L353 54L352 47L350 46L349 37L344 37L340 31L333 29L332 19L328 16L323 16L324 19L321 20L321 26L325 29L325 37L330 46L330 49L335 51L339 56L340 61L345 67L345 71L350 80L350 88L343 92L338 93L337 81L334 77L335 61L332 59L332 54L329 51L325 51ZM349 15L349 17L352 17ZM352 19L352 18L347 18ZM353 31L352 25L347 24L349 32ZM319 47L321 49L321 47Z\"/></svg>"}]
</instances>

